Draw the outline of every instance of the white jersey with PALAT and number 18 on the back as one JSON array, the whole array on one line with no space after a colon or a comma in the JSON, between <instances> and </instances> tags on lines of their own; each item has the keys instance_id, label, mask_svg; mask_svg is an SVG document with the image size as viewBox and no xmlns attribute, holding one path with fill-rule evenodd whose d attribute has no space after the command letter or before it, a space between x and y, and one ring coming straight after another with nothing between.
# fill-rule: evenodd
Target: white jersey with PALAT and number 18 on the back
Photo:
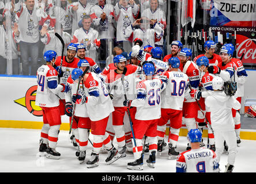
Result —
<instances>
[{"instance_id":1,"label":"white jersey with PALAT and number 18 on the back","mask_svg":"<svg viewBox=\"0 0 256 184\"><path fill-rule=\"evenodd\" d=\"M182 110L185 92L188 90L188 76L180 71L165 71L158 77L166 83L161 93L161 108Z\"/></svg>"}]
</instances>

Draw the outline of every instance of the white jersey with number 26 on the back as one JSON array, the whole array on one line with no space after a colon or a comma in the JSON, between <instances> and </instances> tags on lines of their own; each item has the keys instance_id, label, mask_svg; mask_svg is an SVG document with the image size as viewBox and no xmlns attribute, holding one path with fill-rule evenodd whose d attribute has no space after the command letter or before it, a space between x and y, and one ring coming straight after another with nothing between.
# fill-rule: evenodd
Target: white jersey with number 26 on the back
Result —
<instances>
[{"instance_id":1,"label":"white jersey with number 26 on the back","mask_svg":"<svg viewBox=\"0 0 256 184\"><path fill-rule=\"evenodd\" d=\"M165 85L161 79L143 80L137 85L137 98L131 103L135 106L136 120L157 120L161 117L161 92Z\"/></svg>"}]
</instances>

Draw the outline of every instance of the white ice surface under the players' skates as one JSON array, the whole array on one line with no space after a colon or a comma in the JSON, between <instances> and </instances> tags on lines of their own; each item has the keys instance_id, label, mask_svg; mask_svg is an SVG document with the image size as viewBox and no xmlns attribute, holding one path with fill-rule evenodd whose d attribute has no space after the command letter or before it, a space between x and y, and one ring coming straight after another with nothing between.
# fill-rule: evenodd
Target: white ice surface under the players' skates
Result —
<instances>
[{"instance_id":1,"label":"white ice surface under the players' skates","mask_svg":"<svg viewBox=\"0 0 256 184\"><path fill-rule=\"evenodd\" d=\"M76 148L73 147L68 137L68 131L60 131L56 150L61 153L60 160L48 159L38 155L40 130L0 128L1 173L175 173L176 160L168 160L168 148L161 155L157 155L155 168L146 164L149 155L144 155L144 170L134 171L126 168L128 162L134 160L133 154L127 153L125 158L106 165L107 153L99 155L99 166L87 168L86 162L79 164L75 156ZM90 136L90 139L93 137ZM207 144L207 139L204 138ZM187 138L180 137L177 151L185 151ZM86 161L90 159L92 145L88 143ZM256 140L242 140L238 147L234 173L256 173ZM225 170L227 155L222 154L220 160L220 173Z\"/></svg>"}]
</instances>

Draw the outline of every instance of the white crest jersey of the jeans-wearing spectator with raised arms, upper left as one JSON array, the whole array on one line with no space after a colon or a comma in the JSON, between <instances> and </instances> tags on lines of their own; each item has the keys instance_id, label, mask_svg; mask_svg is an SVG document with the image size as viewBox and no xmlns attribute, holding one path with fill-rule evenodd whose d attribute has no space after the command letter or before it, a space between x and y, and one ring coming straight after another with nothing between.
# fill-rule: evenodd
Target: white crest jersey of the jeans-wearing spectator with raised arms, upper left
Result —
<instances>
[{"instance_id":1,"label":"white crest jersey of the jeans-wearing spectator with raised arms, upper left","mask_svg":"<svg viewBox=\"0 0 256 184\"><path fill-rule=\"evenodd\" d=\"M18 1L18 3L14 4L14 12L18 17L21 41L27 43L36 43L39 41L39 21L42 18L47 18L47 14L43 9L44 7L37 7L35 5L32 12L29 12L25 3Z\"/></svg>"}]
</instances>

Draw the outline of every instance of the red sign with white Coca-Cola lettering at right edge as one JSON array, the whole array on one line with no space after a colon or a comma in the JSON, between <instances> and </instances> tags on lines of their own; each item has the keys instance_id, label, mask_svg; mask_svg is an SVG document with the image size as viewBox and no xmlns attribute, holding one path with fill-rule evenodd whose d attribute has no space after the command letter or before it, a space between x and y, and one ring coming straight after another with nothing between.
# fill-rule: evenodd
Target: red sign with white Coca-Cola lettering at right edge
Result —
<instances>
[{"instance_id":1,"label":"red sign with white Coca-Cola lettering at right edge","mask_svg":"<svg viewBox=\"0 0 256 184\"><path fill-rule=\"evenodd\" d=\"M236 34L236 58L240 59L243 53L243 63L256 64L256 39Z\"/></svg>"}]
</instances>

